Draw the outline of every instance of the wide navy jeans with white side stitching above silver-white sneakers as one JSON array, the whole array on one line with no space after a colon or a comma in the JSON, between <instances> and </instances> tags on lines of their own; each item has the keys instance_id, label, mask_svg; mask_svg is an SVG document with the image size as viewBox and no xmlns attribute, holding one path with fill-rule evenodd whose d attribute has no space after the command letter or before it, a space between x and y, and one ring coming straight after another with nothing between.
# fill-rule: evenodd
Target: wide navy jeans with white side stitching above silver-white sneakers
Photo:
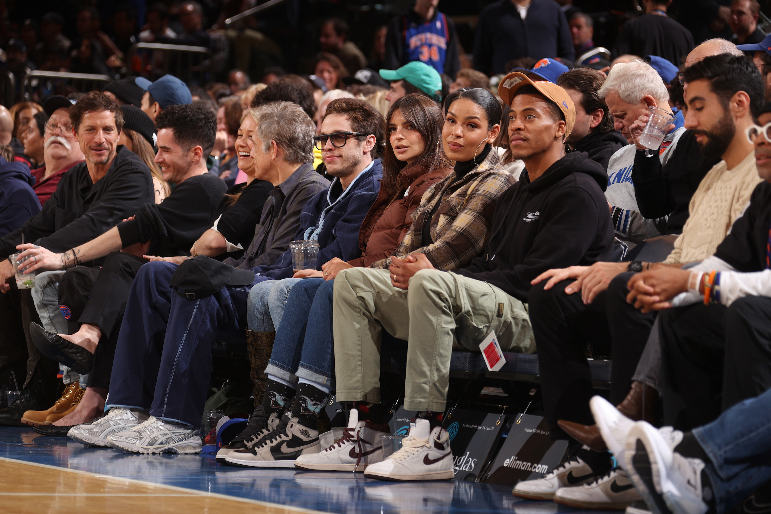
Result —
<instances>
[{"instance_id":1,"label":"wide navy jeans with white side stitching above silver-white sneakers","mask_svg":"<svg viewBox=\"0 0 771 514\"><path fill-rule=\"evenodd\" d=\"M140 268L120 326L109 388L112 407L199 426L211 375L215 338L244 341L249 287L226 286L188 300L170 287L177 264ZM254 287L264 277L255 277Z\"/></svg>"}]
</instances>

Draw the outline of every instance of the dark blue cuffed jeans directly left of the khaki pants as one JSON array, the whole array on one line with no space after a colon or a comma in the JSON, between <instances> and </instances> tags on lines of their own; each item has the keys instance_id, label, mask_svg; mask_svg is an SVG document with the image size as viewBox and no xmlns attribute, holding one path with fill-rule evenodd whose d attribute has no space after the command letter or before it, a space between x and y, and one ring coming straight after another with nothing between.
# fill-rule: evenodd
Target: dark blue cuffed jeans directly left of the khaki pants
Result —
<instances>
[{"instance_id":1,"label":"dark blue cuffed jeans directly left of the khaki pants","mask_svg":"<svg viewBox=\"0 0 771 514\"><path fill-rule=\"evenodd\" d=\"M305 278L294 284L285 302L265 373L290 382L305 378L334 387L334 288L335 281L323 278Z\"/></svg>"}]
</instances>

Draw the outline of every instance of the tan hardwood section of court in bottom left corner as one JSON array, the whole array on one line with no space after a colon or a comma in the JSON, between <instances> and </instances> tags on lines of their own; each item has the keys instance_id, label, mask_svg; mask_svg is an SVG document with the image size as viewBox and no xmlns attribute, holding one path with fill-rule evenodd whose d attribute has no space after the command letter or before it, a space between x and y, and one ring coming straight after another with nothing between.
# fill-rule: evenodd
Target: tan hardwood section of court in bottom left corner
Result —
<instances>
[{"instance_id":1,"label":"tan hardwood section of court in bottom left corner","mask_svg":"<svg viewBox=\"0 0 771 514\"><path fill-rule=\"evenodd\" d=\"M0 512L316 512L0 457Z\"/></svg>"}]
</instances>

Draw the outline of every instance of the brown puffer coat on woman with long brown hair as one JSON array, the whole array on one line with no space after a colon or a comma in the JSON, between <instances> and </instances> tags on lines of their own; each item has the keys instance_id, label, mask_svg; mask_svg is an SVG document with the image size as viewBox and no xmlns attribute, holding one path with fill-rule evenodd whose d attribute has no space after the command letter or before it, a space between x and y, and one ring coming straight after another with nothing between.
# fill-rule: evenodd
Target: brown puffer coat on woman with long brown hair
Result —
<instances>
[{"instance_id":1,"label":"brown puffer coat on woman with long brown hair","mask_svg":"<svg viewBox=\"0 0 771 514\"><path fill-rule=\"evenodd\" d=\"M362 257L349 260L348 264L369 267L373 262L390 257L412 224L412 211L420 205L423 193L452 171L448 168L424 173L420 166L406 166L397 177L400 189L406 193L399 193L391 203L381 188L359 230Z\"/></svg>"}]
</instances>

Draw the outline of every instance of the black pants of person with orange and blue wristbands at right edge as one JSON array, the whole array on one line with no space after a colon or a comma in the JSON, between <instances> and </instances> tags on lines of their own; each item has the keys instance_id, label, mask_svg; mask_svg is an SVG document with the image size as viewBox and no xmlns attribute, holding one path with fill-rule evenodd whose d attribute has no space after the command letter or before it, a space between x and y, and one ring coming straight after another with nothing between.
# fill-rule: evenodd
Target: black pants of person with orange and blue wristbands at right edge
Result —
<instances>
[{"instance_id":1,"label":"black pants of person with orange and blue wristbands at right edge","mask_svg":"<svg viewBox=\"0 0 771 514\"><path fill-rule=\"evenodd\" d=\"M667 425L705 425L771 388L771 298L673 308L659 323Z\"/></svg>"}]
</instances>

